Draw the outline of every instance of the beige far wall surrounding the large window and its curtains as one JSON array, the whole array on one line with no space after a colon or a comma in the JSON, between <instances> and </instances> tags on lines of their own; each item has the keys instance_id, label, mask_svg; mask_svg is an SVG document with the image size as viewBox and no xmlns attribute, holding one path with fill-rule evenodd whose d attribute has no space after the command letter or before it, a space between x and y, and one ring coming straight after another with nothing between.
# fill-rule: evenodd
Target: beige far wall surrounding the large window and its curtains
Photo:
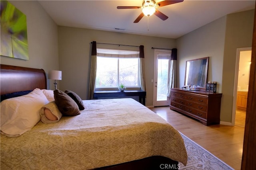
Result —
<instances>
[{"instance_id":1,"label":"beige far wall surrounding the large window and its curtains","mask_svg":"<svg viewBox=\"0 0 256 170\"><path fill-rule=\"evenodd\" d=\"M153 105L153 83L151 80L154 79L154 50L151 47L176 47L175 39L63 26L58 27L58 37L59 64L60 70L62 70L60 90L72 90L80 95L83 100L88 99L92 41L122 45L144 45L147 92L146 106ZM110 46L106 45L97 45L97 47L110 48ZM124 46L118 47L113 45L111 48L127 49ZM138 47L132 49L138 50Z\"/></svg>"}]
</instances>

